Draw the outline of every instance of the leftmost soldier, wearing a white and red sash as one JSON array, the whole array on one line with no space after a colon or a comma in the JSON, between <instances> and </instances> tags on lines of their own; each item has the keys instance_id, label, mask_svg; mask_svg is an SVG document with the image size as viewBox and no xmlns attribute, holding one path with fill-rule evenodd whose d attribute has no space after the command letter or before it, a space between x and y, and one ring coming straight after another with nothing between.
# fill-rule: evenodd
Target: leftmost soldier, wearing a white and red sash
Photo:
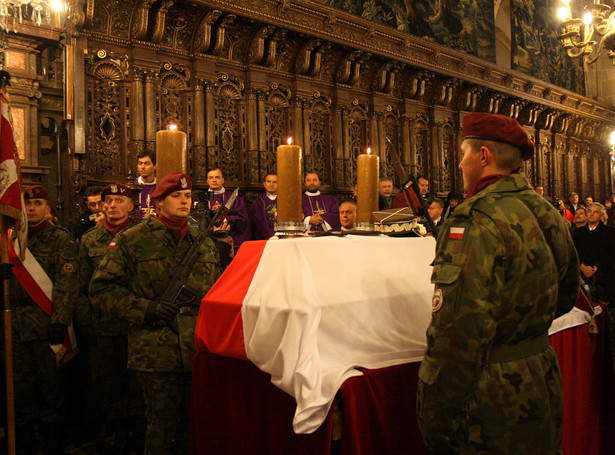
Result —
<instances>
[{"instance_id":1,"label":"leftmost soldier, wearing a white and red sash","mask_svg":"<svg viewBox=\"0 0 615 455\"><path fill-rule=\"evenodd\" d=\"M38 423L45 437L43 453L59 455L64 453L65 371L62 351L54 356L50 345L61 345L71 324L77 297L77 252L67 230L45 221L50 212L47 190L31 186L24 199L31 257L26 256L23 268L14 269L16 278L10 284L17 447L20 454L36 455ZM20 261L17 252L11 255L12 262ZM31 259L34 265L28 262ZM45 286L53 286L51 302L45 300L44 292L35 292Z\"/></svg>"}]
</instances>

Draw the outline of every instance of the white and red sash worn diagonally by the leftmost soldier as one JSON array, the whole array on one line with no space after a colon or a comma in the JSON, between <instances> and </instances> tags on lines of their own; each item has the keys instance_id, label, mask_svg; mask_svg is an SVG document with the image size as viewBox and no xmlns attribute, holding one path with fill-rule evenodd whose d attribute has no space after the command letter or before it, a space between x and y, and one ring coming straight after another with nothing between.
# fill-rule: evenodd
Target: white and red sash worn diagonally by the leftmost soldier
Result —
<instances>
[{"instance_id":1,"label":"white and red sash worn diagonally by the leftmost soldier","mask_svg":"<svg viewBox=\"0 0 615 455\"><path fill-rule=\"evenodd\" d=\"M21 260L21 255L17 253L18 251L19 243L17 239L9 242L9 261L13 264L13 274L32 300L34 300L48 316L51 316L53 312L53 283L49 279L49 276L47 276L45 270L43 270L43 267L41 267L32 253L30 253L30 250L25 251L23 255L24 260ZM65 362L70 360L77 353L77 340L73 325L71 324L68 326L66 337L62 344L50 345L50 347L56 355L62 350L61 357L63 357Z\"/></svg>"}]
</instances>

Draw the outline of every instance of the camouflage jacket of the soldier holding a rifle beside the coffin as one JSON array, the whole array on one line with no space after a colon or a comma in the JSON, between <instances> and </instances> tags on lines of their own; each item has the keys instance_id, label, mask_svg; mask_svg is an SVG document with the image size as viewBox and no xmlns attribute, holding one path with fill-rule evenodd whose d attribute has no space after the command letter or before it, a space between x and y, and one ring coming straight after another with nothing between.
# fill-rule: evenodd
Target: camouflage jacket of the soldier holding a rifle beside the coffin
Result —
<instances>
[{"instance_id":1,"label":"camouflage jacket of the soldier holding a rifle beside the coffin","mask_svg":"<svg viewBox=\"0 0 615 455\"><path fill-rule=\"evenodd\" d=\"M117 234L92 276L90 299L94 308L131 324L128 367L141 371L188 372L195 353L194 331L198 308L179 314L179 335L168 326L145 321L151 300L160 297L183 259L197 231L188 227L180 239L155 217ZM213 241L201 245L200 256L186 286L205 295L220 274ZM196 303L200 305L200 300Z\"/></svg>"}]
</instances>

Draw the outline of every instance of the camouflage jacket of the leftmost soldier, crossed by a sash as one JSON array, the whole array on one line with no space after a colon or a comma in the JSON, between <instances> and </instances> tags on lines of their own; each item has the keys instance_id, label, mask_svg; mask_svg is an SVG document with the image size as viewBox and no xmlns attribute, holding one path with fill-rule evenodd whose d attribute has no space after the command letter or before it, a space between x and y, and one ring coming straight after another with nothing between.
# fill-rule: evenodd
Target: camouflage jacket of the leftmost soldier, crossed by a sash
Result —
<instances>
[{"instance_id":1,"label":"camouflage jacket of the leftmost soldier, crossed by a sash","mask_svg":"<svg viewBox=\"0 0 615 455\"><path fill-rule=\"evenodd\" d=\"M69 325L72 321L78 292L77 249L67 230L51 224L28 239L28 249L53 283L53 312L47 316L17 278L11 278L13 339L43 341L50 323Z\"/></svg>"}]
</instances>

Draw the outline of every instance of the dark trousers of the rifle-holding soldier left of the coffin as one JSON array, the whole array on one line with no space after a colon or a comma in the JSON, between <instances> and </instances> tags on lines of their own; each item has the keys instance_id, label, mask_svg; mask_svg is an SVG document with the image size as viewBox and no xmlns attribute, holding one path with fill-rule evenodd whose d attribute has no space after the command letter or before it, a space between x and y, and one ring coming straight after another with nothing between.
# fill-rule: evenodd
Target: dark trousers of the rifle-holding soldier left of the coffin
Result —
<instances>
[{"instance_id":1,"label":"dark trousers of the rifle-holding soldier left of the coffin","mask_svg":"<svg viewBox=\"0 0 615 455\"><path fill-rule=\"evenodd\" d=\"M187 455L190 446L190 373L138 372L147 431L145 455Z\"/></svg>"}]
</instances>

